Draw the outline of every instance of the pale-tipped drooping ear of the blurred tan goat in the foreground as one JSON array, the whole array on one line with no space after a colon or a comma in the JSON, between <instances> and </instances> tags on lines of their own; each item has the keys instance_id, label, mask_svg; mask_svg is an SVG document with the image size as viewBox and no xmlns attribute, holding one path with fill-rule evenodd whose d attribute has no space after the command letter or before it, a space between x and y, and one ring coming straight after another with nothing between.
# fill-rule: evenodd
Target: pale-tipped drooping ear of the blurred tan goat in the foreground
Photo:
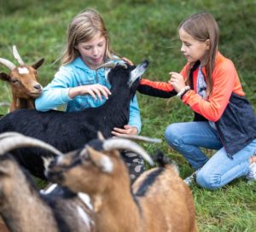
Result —
<instances>
[{"instance_id":1,"label":"pale-tipped drooping ear of the blurred tan goat in the foreground","mask_svg":"<svg viewBox=\"0 0 256 232\"><path fill-rule=\"evenodd\" d=\"M94 148L91 148L88 145L86 146L86 150L90 156L91 161L103 172L109 173L113 171L113 162L106 154L102 154L101 152L96 151Z\"/></svg>"}]
</instances>

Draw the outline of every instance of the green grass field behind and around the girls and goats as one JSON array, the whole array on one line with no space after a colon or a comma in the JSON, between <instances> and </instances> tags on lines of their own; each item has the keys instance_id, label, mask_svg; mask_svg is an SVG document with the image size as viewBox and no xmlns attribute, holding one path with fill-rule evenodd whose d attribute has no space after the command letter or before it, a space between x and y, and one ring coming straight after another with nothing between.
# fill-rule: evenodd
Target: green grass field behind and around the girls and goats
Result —
<instances>
[{"instance_id":1,"label":"green grass field behind and around the girls and goats","mask_svg":"<svg viewBox=\"0 0 256 232\"><path fill-rule=\"evenodd\" d=\"M170 71L179 71L185 60L180 54L177 25L184 17L207 10L218 20L220 50L234 61L247 98L256 107L256 2L181 0L0 0L0 57L14 61L11 46L29 64L45 58L39 68L43 85L59 67L54 63L66 43L67 25L75 14L91 7L106 21L113 50L139 63L150 61L146 78L166 81ZM3 66L1 72L8 72ZM168 100L137 94L141 106L144 136L163 138L167 125L189 121L193 113L177 98ZM0 102L10 102L8 84L0 82ZM7 113L1 107L1 113ZM144 144L148 153L162 149L177 162L182 177L192 169L183 157L162 142ZM208 153L211 155L212 153ZM42 183L38 183L42 184ZM255 231L256 183L240 178L224 188L208 191L192 186L196 218L201 231Z\"/></svg>"}]
</instances>

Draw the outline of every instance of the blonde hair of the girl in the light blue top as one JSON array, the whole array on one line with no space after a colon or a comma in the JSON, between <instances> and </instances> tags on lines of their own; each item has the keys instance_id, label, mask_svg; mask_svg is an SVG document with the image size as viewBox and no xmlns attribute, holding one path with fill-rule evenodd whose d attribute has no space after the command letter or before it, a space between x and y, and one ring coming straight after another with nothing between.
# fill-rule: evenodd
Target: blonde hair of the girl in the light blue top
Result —
<instances>
[{"instance_id":1,"label":"blonde hair of the girl in the light blue top","mask_svg":"<svg viewBox=\"0 0 256 232\"><path fill-rule=\"evenodd\" d=\"M90 41L98 33L106 38L105 60L111 59L113 52L110 49L108 30L102 16L95 9L85 9L84 12L76 15L68 26L67 46L61 56L61 64L68 64L79 57L79 51L75 46Z\"/></svg>"}]
</instances>

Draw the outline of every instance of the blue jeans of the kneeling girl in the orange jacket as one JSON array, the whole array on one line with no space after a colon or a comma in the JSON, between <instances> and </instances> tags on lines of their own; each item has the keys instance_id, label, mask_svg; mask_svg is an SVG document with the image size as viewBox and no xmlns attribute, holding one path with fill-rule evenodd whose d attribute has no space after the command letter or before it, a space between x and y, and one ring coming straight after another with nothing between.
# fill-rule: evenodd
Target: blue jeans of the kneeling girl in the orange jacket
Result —
<instances>
[{"instance_id":1,"label":"blue jeans of the kneeling girl in the orange jacket","mask_svg":"<svg viewBox=\"0 0 256 232\"><path fill-rule=\"evenodd\" d=\"M189 164L197 170L196 182L203 188L216 189L232 180L246 176L249 171L249 158L256 151L256 139L247 144L230 159L219 139L217 131L208 122L176 123L167 126L166 142L183 154ZM211 159L201 148L218 150Z\"/></svg>"}]
</instances>

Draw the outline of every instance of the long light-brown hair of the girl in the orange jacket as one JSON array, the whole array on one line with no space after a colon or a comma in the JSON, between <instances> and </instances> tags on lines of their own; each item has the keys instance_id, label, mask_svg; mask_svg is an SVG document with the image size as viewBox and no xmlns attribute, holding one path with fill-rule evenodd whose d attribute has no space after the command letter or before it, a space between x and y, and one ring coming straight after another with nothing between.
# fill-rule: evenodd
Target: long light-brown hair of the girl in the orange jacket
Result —
<instances>
[{"instance_id":1,"label":"long light-brown hair of the girl in the orange jacket","mask_svg":"<svg viewBox=\"0 0 256 232\"><path fill-rule=\"evenodd\" d=\"M205 55L206 73L207 73L207 96L212 93L212 72L215 67L216 55L218 53L218 24L213 18L212 14L209 13L198 13L189 16L189 18L183 20L178 29L183 29L189 33L190 36L198 41L205 42L209 39L209 50ZM189 64L187 72L187 82L189 83L189 71L195 63Z\"/></svg>"}]
</instances>

